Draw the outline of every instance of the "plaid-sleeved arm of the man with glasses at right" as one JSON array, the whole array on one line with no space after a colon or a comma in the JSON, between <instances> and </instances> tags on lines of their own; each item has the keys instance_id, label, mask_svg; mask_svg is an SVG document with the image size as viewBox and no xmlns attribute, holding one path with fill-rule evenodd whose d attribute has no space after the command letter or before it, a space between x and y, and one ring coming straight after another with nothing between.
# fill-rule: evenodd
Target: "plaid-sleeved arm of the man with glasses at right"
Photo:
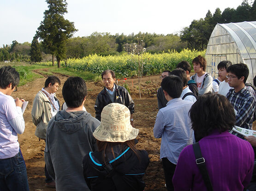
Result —
<instances>
[{"instance_id":1,"label":"plaid-sleeved arm of the man with glasses at right","mask_svg":"<svg viewBox=\"0 0 256 191\"><path fill-rule=\"evenodd\" d=\"M253 96L250 96L240 106L240 109L236 115L236 125L241 126L250 119L255 111L255 99Z\"/></svg>"}]
</instances>

